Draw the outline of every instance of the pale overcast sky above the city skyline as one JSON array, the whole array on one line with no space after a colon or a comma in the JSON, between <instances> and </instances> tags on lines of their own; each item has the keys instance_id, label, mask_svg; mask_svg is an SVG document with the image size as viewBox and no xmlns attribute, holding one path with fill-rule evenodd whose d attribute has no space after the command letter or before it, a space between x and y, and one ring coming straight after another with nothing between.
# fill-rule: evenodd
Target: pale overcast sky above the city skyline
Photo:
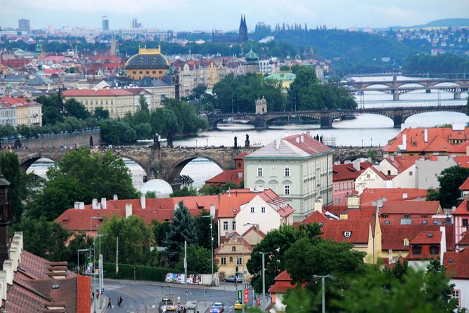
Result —
<instances>
[{"instance_id":1,"label":"pale overcast sky above the city skyline","mask_svg":"<svg viewBox=\"0 0 469 313\"><path fill-rule=\"evenodd\" d=\"M469 0L0 0L0 26L18 27L28 18L32 29L128 28L132 18L158 29L238 29L240 15L248 29L298 22L308 27L388 27L425 24L442 18L469 18Z\"/></svg>"}]
</instances>

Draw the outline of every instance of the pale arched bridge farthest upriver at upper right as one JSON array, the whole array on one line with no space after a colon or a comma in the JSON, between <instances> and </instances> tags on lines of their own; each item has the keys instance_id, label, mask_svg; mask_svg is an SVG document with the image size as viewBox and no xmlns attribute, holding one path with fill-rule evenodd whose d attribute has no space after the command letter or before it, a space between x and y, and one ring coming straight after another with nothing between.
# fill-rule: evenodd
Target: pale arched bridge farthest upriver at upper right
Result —
<instances>
[{"instance_id":1,"label":"pale arched bridge farthest upriver at upper right","mask_svg":"<svg viewBox=\"0 0 469 313\"><path fill-rule=\"evenodd\" d=\"M419 85L419 86L409 86ZM444 85L441 85L444 84ZM397 80L396 76L392 81L347 81L341 86L348 86L350 91L381 91L392 93L393 100L399 100L399 95L410 91L431 90L448 91L453 93L454 99L461 99L461 93L469 90L469 79L407 79Z\"/></svg>"}]
</instances>

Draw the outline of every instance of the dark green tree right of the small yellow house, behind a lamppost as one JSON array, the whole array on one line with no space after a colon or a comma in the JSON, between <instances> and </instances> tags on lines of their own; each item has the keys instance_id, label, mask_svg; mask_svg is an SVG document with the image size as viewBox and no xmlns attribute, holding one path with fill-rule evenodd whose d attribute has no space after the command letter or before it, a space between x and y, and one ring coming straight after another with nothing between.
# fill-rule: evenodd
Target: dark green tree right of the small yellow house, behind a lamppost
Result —
<instances>
[{"instance_id":1,"label":"dark green tree right of the small yellow house, behind a lamppost","mask_svg":"<svg viewBox=\"0 0 469 313\"><path fill-rule=\"evenodd\" d=\"M262 256L259 252L266 252L265 256L265 281L266 288L273 285L276 276L285 269L285 253L290 246L301 238L309 240L318 240L320 234L318 224L307 224L293 227L290 225L280 226L279 229L273 229L266 234L262 241L254 246L251 258L247 261L247 270L254 275L252 286L257 293L262 290Z\"/></svg>"}]
</instances>

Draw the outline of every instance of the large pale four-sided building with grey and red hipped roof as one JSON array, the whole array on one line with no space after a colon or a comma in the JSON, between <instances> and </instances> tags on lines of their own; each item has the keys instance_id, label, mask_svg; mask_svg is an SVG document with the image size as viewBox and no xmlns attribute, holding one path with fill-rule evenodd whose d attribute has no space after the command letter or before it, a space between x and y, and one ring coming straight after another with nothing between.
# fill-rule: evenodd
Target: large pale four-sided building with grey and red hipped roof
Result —
<instances>
[{"instance_id":1,"label":"large pale four-sided building with grey and red hipped roof","mask_svg":"<svg viewBox=\"0 0 469 313\"><path fill-rule=\"evenodd\" d=\"M279 138L243 158L245 187L272 189L290 201L300 222L317 199L332 204L333 152L306 133Z\"/></svg>"}]
</instances>

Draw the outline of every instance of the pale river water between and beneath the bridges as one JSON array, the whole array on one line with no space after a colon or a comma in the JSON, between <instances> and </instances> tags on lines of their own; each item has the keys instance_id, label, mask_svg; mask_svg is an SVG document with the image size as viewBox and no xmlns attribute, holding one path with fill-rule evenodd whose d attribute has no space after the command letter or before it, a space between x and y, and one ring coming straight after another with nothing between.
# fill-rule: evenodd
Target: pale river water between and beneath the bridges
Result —
<instances>
[{"instance_id":1,"label":"pale river water between and beneath the bridges","mask_svg":"<svg viewBox=\"0 0 469 313\"><path fill-rule=\"evenodd\" d=\"M392 80L392 76L374 77L353 77L359 81L387 81ZM398 76L397 79L406 79ZM408 84L407 86L412 86ZM441 84L440 86L444 86ZM461 100L453 100L453 94L446 91L412 91L400 95L399 101L393 101L393 95L381 93L379 91L365 91L362 96L355 96L359 107L406 107L406 106L426 106L426 105L465 105L468 93L461 93ZM431 127L442 124L468 124L469 116L454 112L429 112L410 116L406 121L406 126ZM244 145L246 135L249 135L251 145L266 145L276 138L285 135L294 135L311 131L313 135L322 135L323 140L336 146L376 146L386 145L400 132L400 128L393 127L393 121L386 116L362 114L355 116L355 119L346 121L334 121L331 129L320 129L319 124L299 125L291 124L285 126L269 126L268 129L257 130L253 126L245 124L219 124L217 131L204 131L192 138L175 140L174 145L181 146L232 146L234 137L238 138L238 145ZM125 163L132 172L132 180L135 187L140 189L143 185L144 171L135 162L125 160ZM47 166L50 164L33 164L28 172L34 171L38 175L45 175ZM205 159L195 159L187 164L182 170L182 175L189 175L193 180L193 186L203 186L205 180L212 178L222 171L219 166Z\"/></svg>"}]
</instances>

